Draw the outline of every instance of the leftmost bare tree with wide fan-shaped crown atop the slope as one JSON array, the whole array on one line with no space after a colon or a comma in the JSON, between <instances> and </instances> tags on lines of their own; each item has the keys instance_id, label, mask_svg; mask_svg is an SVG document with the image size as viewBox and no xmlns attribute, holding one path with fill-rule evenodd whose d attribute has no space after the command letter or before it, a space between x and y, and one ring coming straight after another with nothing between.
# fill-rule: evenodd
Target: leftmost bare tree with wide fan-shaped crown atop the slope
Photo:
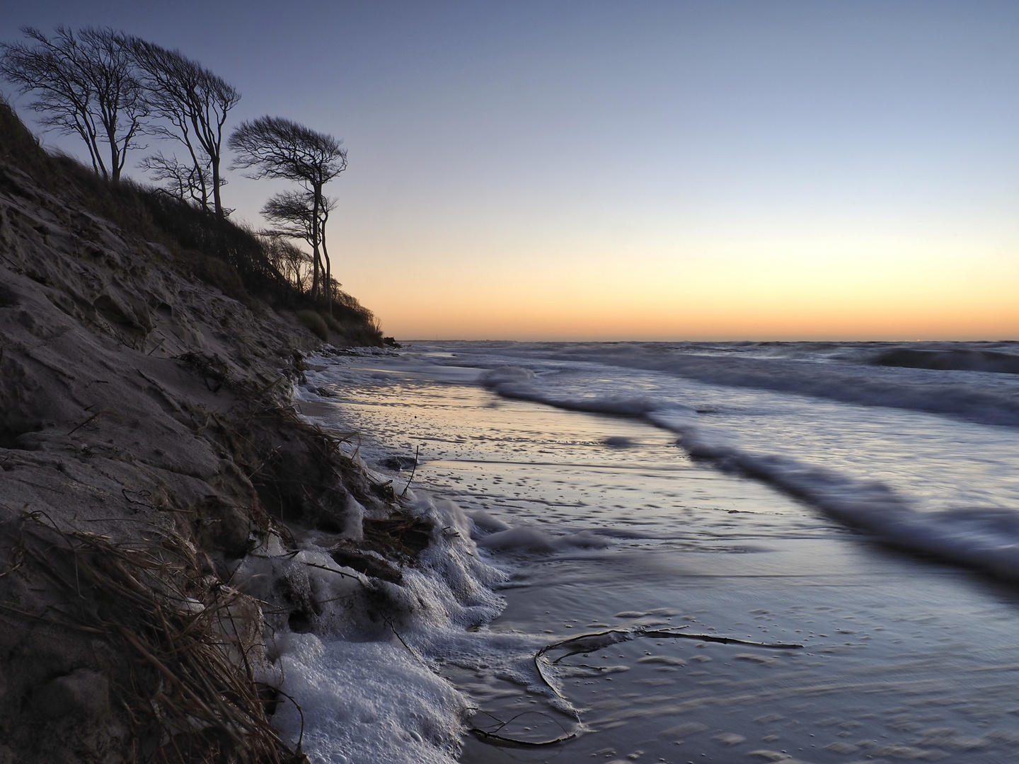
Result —
<instances>
[{"instance_id":1,"label":"leftmost bare tree with wide fan-shaped crown atop the slope","mask_svg":"<svg viewBox=\"0 0 1019 764\"><path fill-rule=\"evenodd\" d=\"M97 174L120 182L149 113L126 36L92 26L77 36L66 26L53 37L32 26L21 32L32 42L0 43L0 74L35 95L30 108L45 127L85 141Z\"/></svg>"}]
</instances>

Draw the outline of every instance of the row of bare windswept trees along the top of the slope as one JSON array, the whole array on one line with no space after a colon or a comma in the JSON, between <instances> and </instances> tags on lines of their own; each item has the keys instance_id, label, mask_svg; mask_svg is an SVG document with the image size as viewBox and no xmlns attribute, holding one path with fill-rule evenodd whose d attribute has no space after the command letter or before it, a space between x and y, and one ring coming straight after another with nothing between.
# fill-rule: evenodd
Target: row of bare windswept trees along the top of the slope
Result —
<instances>
[{"instance_id":1,"label":"row of bare windswept trees along the top of the slope","mask_svg":"<svg viewBox=\"0 0 1019 764\"><path fill-rule=\"evenodd\" d=\"M229 215L220 189L224 128L240 100L233 86L179 51L108 28L75 34L58 26L52 36L34 28L21 32L23 42L0 43L0 75L34 96L29 106L46 128L85 142L98 175L118 184L127 153L147 148L140 145L143 135L169 140L182 148L183 161L158 152L140 167L162 184L162 193L210 217ZM312 295L331 293L325 230L336 202L323 189L346 169L341 141L264 116L243 122L225 143L234 153L232 167L249 177L298 184L266 203L262 213L274 227L265 233L272 240L306 241L312 249ZM300 286L300 263L296 268Z\"/></svg>"}]
</instances>

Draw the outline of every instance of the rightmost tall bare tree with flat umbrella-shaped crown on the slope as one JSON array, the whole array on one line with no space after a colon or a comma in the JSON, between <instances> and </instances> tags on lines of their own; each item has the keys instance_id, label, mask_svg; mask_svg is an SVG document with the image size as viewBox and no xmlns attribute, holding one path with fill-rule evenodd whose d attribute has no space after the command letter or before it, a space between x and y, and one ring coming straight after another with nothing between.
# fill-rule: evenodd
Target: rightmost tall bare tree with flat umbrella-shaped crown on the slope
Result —
<instances>
[{"instance_id":1,"label":"rightmost tall bare tree with flat umbrella-shaped crown on the slope","mask_svg":"<svg viewBox=\"0 0 1019 764\"><path fill-rule=\"evenodd\" d=\"M283 117L259 117L243 122L227 142L234 166L252 178L293 180L311 197L312 297L319 296L321 271L322 187L346 169L346 149L332 135L317 132Z\"/></svg>"}]
</instances>

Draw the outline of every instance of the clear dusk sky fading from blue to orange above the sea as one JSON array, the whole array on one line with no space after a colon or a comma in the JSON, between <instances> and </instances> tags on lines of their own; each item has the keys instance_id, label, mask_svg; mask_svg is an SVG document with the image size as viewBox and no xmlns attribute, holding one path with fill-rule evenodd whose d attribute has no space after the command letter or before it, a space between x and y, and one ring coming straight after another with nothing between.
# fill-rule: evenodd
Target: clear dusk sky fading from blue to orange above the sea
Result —
<instances>
[{"instance_id":1,"label":"clear dusk sky fading from blue to orange above the sea","mask_svg":"<svg viewBox=\"0 0 1019 764\"><path fill-rule=\"evenodd\" d=\"M0 0L59 23L341 138L333 273L397 339L1019 339L1019 3Z\"/></svg>"}]
</instances>

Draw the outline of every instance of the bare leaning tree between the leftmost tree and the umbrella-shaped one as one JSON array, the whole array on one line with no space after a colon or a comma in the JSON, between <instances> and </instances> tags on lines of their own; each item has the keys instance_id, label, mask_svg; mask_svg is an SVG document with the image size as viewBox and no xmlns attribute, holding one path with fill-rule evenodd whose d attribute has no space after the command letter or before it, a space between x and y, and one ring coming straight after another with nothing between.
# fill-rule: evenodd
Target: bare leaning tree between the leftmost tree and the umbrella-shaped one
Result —
<instances>
[{"instance_id":1,"label":"bare leaning tree between the leftmost tree and the umbrella-shaped one","mask_svg":"<svg viewBox=\"0 0 1019 764\"><path fill-rule=\"evenodd\" d=\"M129 38L127 43L142 72L152 111L167 123L157 123L153 132L179 141L186 147L194 167L191 178L198 183L195 190L200 204L209 209L211 203L216 215L223 217L220 198L220 187L225 182L220 170L223 125L229 110L240 100L240 94L225 79L179 51L167 50L137 37Z\"/></svg>"}]
</instances>

